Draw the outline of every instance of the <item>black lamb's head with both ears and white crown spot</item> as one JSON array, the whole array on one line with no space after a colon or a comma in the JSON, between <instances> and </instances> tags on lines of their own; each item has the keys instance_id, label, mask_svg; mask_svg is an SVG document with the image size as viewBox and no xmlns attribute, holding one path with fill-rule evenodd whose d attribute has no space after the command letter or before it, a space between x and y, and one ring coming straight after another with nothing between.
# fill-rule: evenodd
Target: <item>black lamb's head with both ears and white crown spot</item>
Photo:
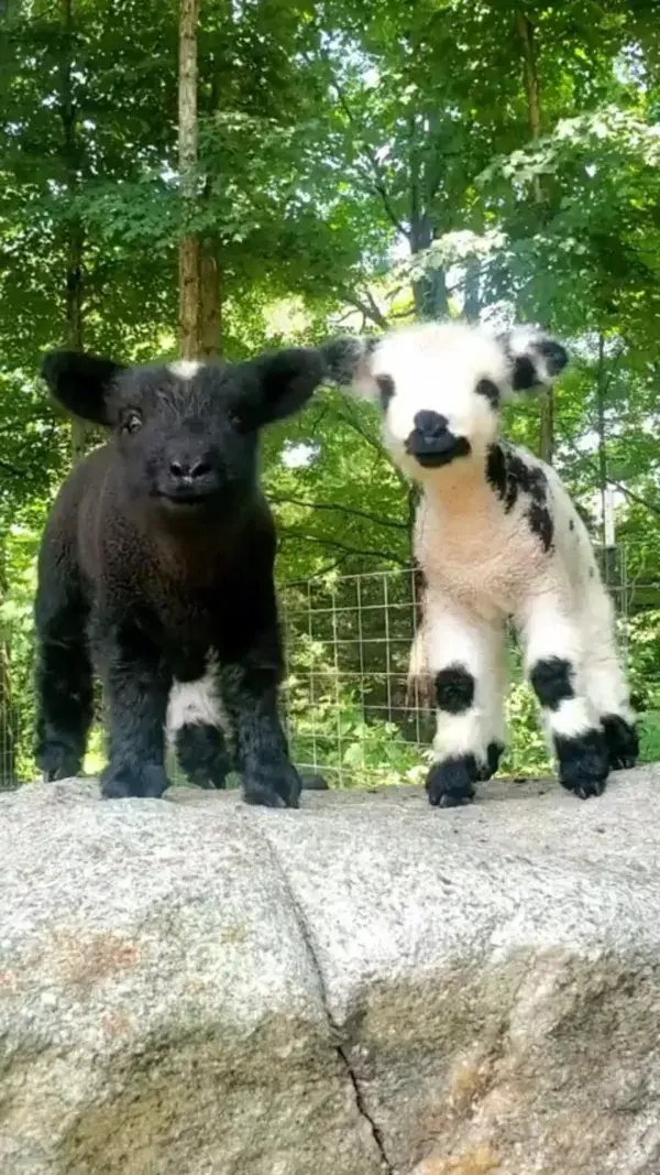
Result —
<instances>
[{"instance_id":1,"label":"black lamb's head with both ears and white crown spot","mask_svg":"<svg viewBox=\"0 0 660 1175\"><path fill-rule=\"evenodd\" d=\"M245 363L135 368L56 351L42 374L69 411L113 429L132 503L217 518L235 517L251 499L258 430L301 408L324 364L303 349Z\"/></svg>"}]
</instances>

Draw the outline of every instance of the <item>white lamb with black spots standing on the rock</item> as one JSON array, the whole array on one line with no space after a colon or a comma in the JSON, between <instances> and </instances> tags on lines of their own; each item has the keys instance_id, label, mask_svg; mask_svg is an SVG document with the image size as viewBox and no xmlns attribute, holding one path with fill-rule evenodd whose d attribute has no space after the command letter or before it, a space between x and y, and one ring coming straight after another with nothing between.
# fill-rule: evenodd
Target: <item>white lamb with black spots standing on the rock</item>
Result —
<instances>
[{"instance_id":1,"label":"white lamb with black spots standing on the rock","mask_svg":"<svg viewBox=\"0 0 660 1175\"><path fill-rule=\"evenodd\" d=\"M386 444L422 486L415 558L423 620L413 671L433 683L431 804L472 800L504 751L505 626L575 795L600 795L638 756L614 617L586 528L554 470L498 435L500 405L567 363L530 327L425 323L324 348L332 378L382 405Z\"/></svg>"}]
</instances>

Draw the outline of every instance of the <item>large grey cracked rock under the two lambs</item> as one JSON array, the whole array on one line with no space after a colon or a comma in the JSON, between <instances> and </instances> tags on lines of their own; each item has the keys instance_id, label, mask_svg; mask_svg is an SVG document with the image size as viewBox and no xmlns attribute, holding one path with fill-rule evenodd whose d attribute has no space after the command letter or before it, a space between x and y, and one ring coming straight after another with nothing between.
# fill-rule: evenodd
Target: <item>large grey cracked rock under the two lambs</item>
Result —
<instances>
[{"instance_id":1,"label":"large grey cracked rock under the two lambs","mask_svg":"<svg viewBox=\"0 0 660 1175\"><path fill-rule=\"evenodd\" d=\"M0 798L4 1175L658 1175L660 768Z\"/></svg>"}]
</instances>

